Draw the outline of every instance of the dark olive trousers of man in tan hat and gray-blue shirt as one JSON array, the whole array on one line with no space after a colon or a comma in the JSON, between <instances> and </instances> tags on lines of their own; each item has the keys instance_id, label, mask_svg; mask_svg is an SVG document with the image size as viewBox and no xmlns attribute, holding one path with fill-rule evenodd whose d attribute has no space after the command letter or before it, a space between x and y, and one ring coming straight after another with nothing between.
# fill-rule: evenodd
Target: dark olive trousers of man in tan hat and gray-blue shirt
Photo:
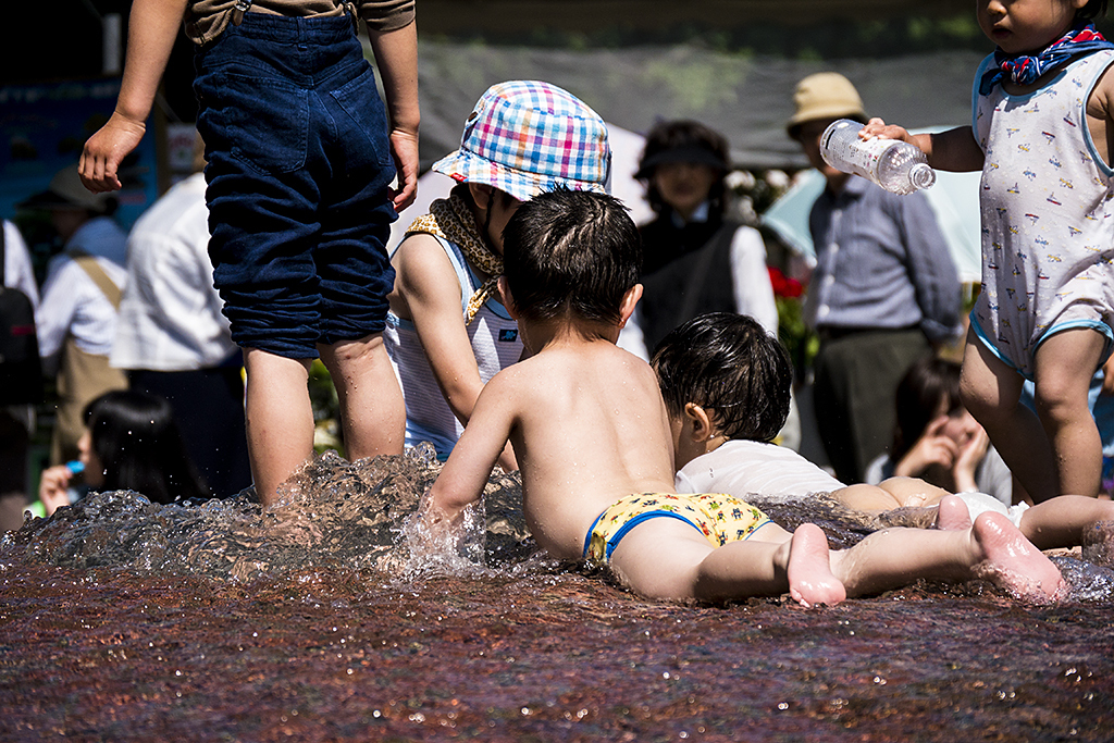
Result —
<instances>
[{"instance_id":1,"label":"dark olive trousers of man in tan hat and gray-blue shirt","mask_svg":"<svg viewBox=\"0 0 1114 743\"><path fill-rule=\"evenodd\" d=\"M931 351L916 329L821 333L813 407L824 452L841 482L862 482L870 462L890 448L898 382Z\"/></svg>"}]
</instances>

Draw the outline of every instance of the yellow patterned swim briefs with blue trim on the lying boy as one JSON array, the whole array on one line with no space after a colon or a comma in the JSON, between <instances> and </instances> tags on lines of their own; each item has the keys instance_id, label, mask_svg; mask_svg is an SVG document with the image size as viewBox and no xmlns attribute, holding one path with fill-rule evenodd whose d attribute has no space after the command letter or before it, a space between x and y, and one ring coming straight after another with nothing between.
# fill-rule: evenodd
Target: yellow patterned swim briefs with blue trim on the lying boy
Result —
<instances>
[{"instance_id":1,"label":"yellow patterned swim briefs with blue trim on the lying boy","mask_svg":"<svg viewBox=\"0 0 1114 743\"><path fill-rule=\"evenodd\" d=\"M722 493L641 492L620 498L596 517L584 540L585 559L606 563L627 531L652 518L675 518L721 547L750 538L770 517L739 498Z\"/></svg>"}]
</instances>

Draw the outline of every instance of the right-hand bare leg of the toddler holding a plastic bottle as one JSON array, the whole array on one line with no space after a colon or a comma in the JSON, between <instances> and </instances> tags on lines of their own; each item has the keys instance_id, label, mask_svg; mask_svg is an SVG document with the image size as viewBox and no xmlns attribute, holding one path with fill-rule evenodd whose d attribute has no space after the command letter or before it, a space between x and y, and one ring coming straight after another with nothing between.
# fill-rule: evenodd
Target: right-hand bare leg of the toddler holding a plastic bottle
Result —
<instances>
[{"instance_id":1,"label":"right-hand bare leg of the toddler holding a plastic bottle","mask_svg":"<svg viewBox=\"0 0 1114 743\"><path fill-rule=\"evenodd\" d=\"M1036 408L1052 444L1057 486L1047 495L1027 488L1037 502L1062 493L1098 495L1103 444L1087 390L1105 345L1102 333L1077 327L1055 333L1037 349Z\"/></svg>"}]
</instances>

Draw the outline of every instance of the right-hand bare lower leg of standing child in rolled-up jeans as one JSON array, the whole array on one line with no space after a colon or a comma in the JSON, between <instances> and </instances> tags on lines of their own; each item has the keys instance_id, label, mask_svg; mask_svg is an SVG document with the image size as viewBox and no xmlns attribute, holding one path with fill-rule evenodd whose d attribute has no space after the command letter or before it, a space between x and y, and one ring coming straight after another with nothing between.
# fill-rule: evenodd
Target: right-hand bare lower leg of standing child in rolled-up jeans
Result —
<instances>
[{"instance_id":1,"label":"right-hand bare lower leg of standing child in rolled-up jeans","mask_svg":"<svg viewBox=\"0 0 1114 743\"><path fill-rule=\"evenodd\" d=\"M320 351L336 388L349 460L401 454L407 411L382 334L323 345Z\"/></svg>"}]
</instances>

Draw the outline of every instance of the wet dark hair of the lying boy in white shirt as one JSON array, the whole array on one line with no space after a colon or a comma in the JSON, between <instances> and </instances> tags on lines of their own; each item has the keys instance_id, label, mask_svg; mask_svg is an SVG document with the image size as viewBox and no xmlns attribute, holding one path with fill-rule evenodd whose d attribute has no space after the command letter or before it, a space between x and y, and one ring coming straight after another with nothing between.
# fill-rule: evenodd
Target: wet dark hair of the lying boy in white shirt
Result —
<instances>
[{"instance_id":1,"label":"wet dark hair of the lying boy in white shirt","mask_svg":"<svg viewBox=\"0 0 1114 743\"><path fill-rule=\"evenodd\" d=\"M658 343L651 364L671 416L695 403L715 414L729 439L773 441L789 417L789 352L746 315L690 320Z\"/></svg>"}]
</instances>

